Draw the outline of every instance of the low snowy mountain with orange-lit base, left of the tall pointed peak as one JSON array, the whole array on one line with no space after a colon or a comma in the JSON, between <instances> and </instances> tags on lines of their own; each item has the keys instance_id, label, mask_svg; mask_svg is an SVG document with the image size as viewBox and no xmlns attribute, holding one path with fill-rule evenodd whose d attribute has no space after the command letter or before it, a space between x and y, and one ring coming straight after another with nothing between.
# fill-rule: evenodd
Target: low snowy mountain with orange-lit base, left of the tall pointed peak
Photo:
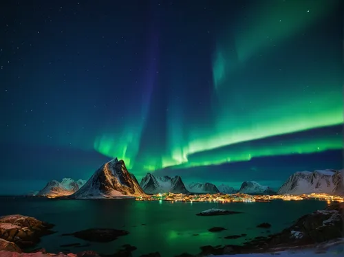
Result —
<instances>
[{"instance_id":1,"label":"low snowy mountain with orange-lit base, left of the tall pointed peak","mask_svg":"<svg viewBox=\"0 0 344 257\"><path fill-rule=\"evenodd\" d=\"M35 194L37 197L63 197L78 191L85 184L85 180L74 181L70 178L64 178L61 182L52 180Z\"/></svg>"}]
</instances>

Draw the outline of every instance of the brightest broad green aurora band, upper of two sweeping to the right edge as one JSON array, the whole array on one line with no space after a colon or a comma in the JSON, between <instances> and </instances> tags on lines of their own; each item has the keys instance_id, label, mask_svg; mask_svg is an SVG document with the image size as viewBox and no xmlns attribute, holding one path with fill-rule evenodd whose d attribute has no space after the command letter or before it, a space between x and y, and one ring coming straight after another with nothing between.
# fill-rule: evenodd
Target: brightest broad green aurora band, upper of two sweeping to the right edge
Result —
<instances>
[{"instance_id":1,"label":"brightest broad green aurora band, upper of two sweeping to the right edge","mask_svg":"<svg viewBox=\"0 0 344 257\"><path fill-rule=\"evenodd\" d=\"M283 113L281 109L275 109L275 113L266 110L260 111L257 115L250 117L249 119L255 122L254 126L236 126L235 129L228 131L230 128L230 122L219 122L217 135L204 139L195 139L189 142L187 150L188 155L191 153L197 153L204 150L210 150L213 148L219 148L230 144L237 144L239 142L246 142L255 139L261 139L264 137L271 137L274 135L283 135L287 133L294 133L298 131L305 131L308 129L320 128L323 126L334 126L343 124L343 107L332 110L331 112L323 111L321 113L309 113L308 111L301 112L302 107L294 108L296 111L289 111L288 115L276 117L269 122L267 116L279 116L278 113ZM285 112L288 113L288 112ZM266 117L266 122L259 121L260 117ZM228 121L228 120L227 120ZM238 121L239 123L240 121Z\"/></svg>"}]
</instances>

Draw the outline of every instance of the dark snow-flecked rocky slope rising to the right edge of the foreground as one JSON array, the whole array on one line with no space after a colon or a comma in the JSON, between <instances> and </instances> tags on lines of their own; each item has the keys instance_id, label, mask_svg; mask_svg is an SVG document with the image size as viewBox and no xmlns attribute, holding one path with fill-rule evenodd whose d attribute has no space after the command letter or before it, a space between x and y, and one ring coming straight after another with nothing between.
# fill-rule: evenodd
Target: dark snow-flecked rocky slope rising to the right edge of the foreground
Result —
<instances>
[{"instance_id":1,"label":"dark snow-flecked rocky slope rising to the right edge of the foreground","mask_svg":"<svg viewBox=\"0 0 344 257\"><path fill-rule=\"evenodd\" d=\"M258 236L244 245L226 245L201 247L200 256L214 254L250 254L269 252L272 249L303 247L324 243L343 237L344 203L334 203L325 210L318 210L302 216L293 225L280 233L268 237Z\"/></svg>"}]
</instances>

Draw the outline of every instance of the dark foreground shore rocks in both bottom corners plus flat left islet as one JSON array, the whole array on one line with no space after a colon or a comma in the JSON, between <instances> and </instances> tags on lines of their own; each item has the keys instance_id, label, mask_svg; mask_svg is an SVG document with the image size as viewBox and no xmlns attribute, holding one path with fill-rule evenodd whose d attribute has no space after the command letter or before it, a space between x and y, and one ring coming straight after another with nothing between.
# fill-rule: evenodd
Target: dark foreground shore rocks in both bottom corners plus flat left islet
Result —
<instances>
[{"instance_id":1,"label":"dark foreground shore rocks in both bottom corners plus flat left islet","mask_svg":"<svg viewBox=\"0 0 344 257\"><path fill-rule=\"evenodd\" d=\"M325 210L318 210L306 214L294 222L285 230L267 237L258 237L244 245L225 245L213 247L206 245L201 247L200 254L180 254L179 257L208 256L223 254L252 254L263 252L276 252L283 249L300 247L314 247L343 238L344 203L334 203ZM122 249L111 255L97 254L96 252L80 252L77 254L47 254L44 249L36 250L36 253L22 253L28 247L39 243L41 236L54 233L54 225L39 221L32 217L11 215L0 217L0 256L11 257L39 257L39 256L69 256L69 257L116 257L132 256L136 250L132 245L123 245ZM118 236L125 236L129 232L123 230L90 229L74 232L71 235L83 238L85 241L109 241ZM161 256L158 252L142 255L150 257Z\"/></svg>"}]
</instances>

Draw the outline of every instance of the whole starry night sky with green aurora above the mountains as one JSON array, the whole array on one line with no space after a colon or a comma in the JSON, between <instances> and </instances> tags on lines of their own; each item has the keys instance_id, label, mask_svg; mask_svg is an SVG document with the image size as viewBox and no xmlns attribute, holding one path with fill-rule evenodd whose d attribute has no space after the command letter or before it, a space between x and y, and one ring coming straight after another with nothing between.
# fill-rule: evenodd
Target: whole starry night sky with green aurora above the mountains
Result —
<instances>
[{"instance_id":1,"label":"whole starry night sky with green aurora above the mountains","mask_svg":"<svg viewBox=\"0 0 344 257\"><path fill-rule=\"evenodd\" d=\"M343 1L0 3L0 194L112 157L278 188L343 168Z\"/></svg>"}]
</instances>

